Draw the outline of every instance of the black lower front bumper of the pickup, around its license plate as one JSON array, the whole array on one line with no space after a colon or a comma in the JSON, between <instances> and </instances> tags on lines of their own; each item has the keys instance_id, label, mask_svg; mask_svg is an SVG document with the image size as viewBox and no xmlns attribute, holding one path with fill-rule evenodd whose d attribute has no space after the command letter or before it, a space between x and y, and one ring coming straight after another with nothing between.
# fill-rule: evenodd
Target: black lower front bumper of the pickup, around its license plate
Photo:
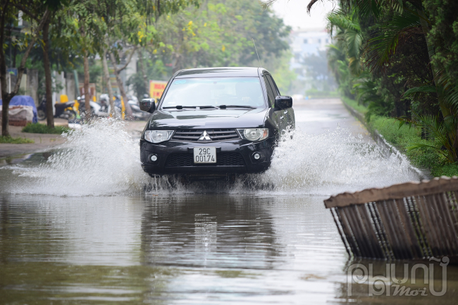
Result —
<instances>
[{"instance_id":1,"label":"black lower front bumper of the pickup, around its license plate","mask_svg":"<svg viewBox=\"0 0 458 305\"><path fill-rule=\"evenodd\" d=\"M166 141L153 144L140 140L140 160L142 168L149 175L169 174L228 174L261 173L271 165L271 156L275 140L249 142L236 139L223 142L178 142ZM194 164L194 147L216 147L216 164ZM255 160L254 153L261 154ZM155 154L158 158L151 161Z\"/></svg>"}]
</instances>

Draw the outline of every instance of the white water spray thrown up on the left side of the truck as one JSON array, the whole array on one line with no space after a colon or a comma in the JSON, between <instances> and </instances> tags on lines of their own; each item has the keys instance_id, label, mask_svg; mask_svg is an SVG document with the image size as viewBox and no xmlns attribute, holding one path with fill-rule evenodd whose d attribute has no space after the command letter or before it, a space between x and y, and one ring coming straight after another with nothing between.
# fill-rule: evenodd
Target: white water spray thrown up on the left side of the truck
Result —
<instances>
[{"instance_id":1,"label":"white water spray thrown up on the left side of the truck","mask_svg":"<svg viewBox=\"0 0 458 305\"><path fill-rule=\"evenodd\" d=\"M15 170L28 176L13 192L58 196L113 195L140 192L149 177L140 163L138 141L119 120L99 119L73 130L55 154L37 168Z\"/></svg>"}]
</instances>

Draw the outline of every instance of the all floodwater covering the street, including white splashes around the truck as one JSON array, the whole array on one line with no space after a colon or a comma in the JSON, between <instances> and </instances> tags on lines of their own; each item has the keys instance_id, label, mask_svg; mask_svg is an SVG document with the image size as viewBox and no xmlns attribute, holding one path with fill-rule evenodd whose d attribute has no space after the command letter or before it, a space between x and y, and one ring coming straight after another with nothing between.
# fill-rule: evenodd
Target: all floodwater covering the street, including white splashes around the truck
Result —
<instances>
[{"instance_id":1,"label":"all floodwater covering the street, including white splashes around the truck","mask_svg":"<svg viewBox=\"0 0 458 305\"><path fill-rule=\"evenodd\" d=\"M53 154L1 159L0 304L456 304L450 265L428 265L433 290L422 273L403 284L427 295L348 285L354 263L380 276L386 263L349 261L323 199L415 176L338 101L295 109L271 170L234 185L147 177L137 140L108 121Z\"/></svg>"}]
</instances>

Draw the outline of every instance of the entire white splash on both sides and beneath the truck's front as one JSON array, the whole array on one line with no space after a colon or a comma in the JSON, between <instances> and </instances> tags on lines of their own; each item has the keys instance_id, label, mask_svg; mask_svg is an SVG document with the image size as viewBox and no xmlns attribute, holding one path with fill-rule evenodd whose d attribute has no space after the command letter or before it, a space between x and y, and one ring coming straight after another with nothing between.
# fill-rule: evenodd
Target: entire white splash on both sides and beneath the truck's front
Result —
<instances>
[{"instance_id":1,"label":"entire white splash on both sides and beneath the truck's front","mask_svg":"<svg viewBox=\"0 0 458 305\"><path fill-rule=\"evenodd\" d=\"M182 185L168 177L149 178L140 147L118 120L100 119L66 135L66 144L39 166L18 168L26 178L11 192L58 196L148 193L336 194L416 180L406 161L383 157L378 147L338 127L308 135L293 132L280 142L266 173L245 175L233 185ZM13 169L13 168L11 168ZM25 187L24 187L25 185ZM267 186L267 187L266 187ZM217 189L215 191L215 189ZM264 189L264 190L263 190Z\"/></svg>"}]
</instances>

